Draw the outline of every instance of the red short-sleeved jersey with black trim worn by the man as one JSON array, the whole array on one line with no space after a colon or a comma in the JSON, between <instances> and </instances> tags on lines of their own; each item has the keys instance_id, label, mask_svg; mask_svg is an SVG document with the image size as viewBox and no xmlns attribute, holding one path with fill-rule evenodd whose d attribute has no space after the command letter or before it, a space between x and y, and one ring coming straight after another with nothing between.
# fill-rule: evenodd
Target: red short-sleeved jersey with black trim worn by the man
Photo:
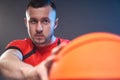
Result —
<instances>
[{"instance_id":1,"label":"red short-sleeved jersey with black trim worn by the man","mask_svg":"<svg viewBox=\"0 0 120 80\"><path fill-rule=\"evenodd\" d=\"M25 38L23 40L14 40L6 46L7 49L17 49L23 55L23 61L25 63L36 66L42 62L45 58L50 56L51 51L54 47L58 46L62 42L69 42L67 39L56 38L55 42L45 46L37 47L33 44L31 39Z\"/></svg>"}]
</instances>

